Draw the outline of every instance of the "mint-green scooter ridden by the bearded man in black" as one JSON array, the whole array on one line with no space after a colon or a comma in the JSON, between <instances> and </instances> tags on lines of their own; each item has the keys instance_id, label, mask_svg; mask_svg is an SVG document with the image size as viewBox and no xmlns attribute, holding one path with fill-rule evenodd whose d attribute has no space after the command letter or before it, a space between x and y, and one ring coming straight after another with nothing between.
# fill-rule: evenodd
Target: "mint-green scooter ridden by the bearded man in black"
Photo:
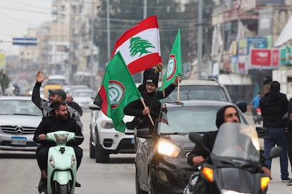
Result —
<instances>
[{"instance_id":1,"label":"mint-green scooter ridden by the bearded man in black","mask_svg":"<svg viewBox=\"0 0 292 194\"><path fill-rule=\"evenodd\" d=\"M69 131L55 131L48 133L46 141L53 141L55 146L49 148L47 168L47 190L39 186L39 193L45 194L73 194L75 191L77 160L74 149L66 145L74 141L75 136Z\"/></svg>"}]
</instances>

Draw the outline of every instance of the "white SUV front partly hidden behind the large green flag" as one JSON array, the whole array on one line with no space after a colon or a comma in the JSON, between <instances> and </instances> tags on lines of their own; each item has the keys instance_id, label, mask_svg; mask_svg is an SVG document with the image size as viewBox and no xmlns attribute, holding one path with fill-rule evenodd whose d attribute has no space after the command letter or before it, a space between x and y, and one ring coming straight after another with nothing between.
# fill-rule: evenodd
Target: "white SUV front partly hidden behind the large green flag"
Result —
<instances>
[{"instance_id":1,"label":"white SUV front partly hidden behind the large green flag","mask_svg":"<svg viewBox=\"0 0 292 194\"><path fill-rule=\"evenodd\" d=\"M90 158L98 163L108 163L110 154L135 153L134 130L126 129L125 133L116 131L112 120L104 115L100 108L93 103L89 106L90 119ZM123 117L130 122L133 116Z\"/></svg>"}]
</instances>

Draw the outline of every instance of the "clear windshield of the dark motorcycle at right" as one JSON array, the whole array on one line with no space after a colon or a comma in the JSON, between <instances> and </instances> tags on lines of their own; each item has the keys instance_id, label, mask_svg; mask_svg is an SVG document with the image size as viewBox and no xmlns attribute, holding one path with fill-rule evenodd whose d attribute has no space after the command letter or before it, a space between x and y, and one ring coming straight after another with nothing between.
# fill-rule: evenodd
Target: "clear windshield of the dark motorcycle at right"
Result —
<instances>
[{"instance_id":1,"label":"clear windshield of the dark motorcycle at right","mask_svg":"<svg viewBox=\"0 0 292 194\"><path fill-rule=\"evenodd\" d=\"M260 160L258 150L260 143L254 127L239 123L224 123L219 128L212 153L219 157L236 157L257 162Z\"/></svg>"}]
</instances>

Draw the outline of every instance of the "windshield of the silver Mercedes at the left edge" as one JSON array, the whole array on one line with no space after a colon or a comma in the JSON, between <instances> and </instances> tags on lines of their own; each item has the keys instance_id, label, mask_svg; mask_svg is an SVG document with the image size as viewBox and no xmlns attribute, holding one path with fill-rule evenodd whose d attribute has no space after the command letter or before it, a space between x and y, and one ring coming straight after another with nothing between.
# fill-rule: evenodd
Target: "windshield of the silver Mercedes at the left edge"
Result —
<instances>
[{"instance_id":1,"label":"windshield of the silver Mercedes at the left edge","mask_svg":"<svg viewBox=\"0 0 292 194\"><path fill-rule=\"evenodd\" d=\"M0 101L0 115L42 116L42 111L32 101L11 99Z\"/></svg>"}]
</instances>

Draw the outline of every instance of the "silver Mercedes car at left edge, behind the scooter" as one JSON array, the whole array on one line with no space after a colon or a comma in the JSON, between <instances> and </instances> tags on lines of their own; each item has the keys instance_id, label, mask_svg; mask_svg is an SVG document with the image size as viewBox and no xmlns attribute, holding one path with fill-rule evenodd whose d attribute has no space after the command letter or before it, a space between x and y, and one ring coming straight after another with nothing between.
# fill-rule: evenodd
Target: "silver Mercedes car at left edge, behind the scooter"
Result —
<instances>
[{"instance_id":1,"label":"silver Mercedes car at left edge, behind the scooter","mask_svg":"<svg viewBox=\"0 0 292 194\"><path fill-rule=\"evenodd\" d=\"M0 150L35 151L42 112L29 96L0 96Z\"/></svg>"}]
</instances>

